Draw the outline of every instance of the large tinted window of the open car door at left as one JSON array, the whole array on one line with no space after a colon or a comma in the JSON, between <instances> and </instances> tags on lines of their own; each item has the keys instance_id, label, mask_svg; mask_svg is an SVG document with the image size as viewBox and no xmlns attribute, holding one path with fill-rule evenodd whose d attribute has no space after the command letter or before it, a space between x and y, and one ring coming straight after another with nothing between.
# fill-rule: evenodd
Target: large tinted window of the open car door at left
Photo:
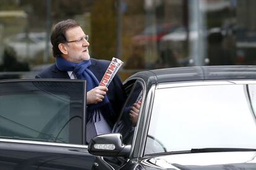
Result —
<instances>
[{"instance_id":1,"label":"large tinted window of the open car door at left","mask_svg":"<svg viewBox=\"0 0 256 170\"><path fill-rule=\"evenodd\" d=\"M82 144L84 82L0 82L0 138Z\"/></svg>"}]
</instances>

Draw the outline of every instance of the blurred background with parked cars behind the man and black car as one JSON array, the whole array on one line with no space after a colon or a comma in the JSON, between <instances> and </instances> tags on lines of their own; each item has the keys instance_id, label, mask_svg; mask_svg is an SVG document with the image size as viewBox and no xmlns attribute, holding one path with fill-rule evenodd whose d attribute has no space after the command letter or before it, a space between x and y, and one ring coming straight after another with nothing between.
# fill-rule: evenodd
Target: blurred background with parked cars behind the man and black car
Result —
<instances>
[{"instance_id":1,"label":"blurred background with parked cars behind the man and black car","mask_svg":"<svg viewBox=\"0 0 256 170\"><path fill-rule=\"evenodd\" d=\"M53 25L75 19L90 55L140 70L256 63L255 0L1 0L0 79L33 79L54 63Z\"/></svg>"}]
</instances>

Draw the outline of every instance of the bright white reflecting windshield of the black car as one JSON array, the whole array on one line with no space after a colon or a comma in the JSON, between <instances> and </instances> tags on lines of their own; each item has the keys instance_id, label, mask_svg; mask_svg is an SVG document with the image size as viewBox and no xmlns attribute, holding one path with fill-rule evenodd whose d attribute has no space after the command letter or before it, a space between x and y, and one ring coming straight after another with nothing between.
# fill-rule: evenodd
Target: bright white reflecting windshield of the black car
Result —
<instances>
[{"instance_id":1,"label":"bright white reflecting windshield of the black car","mask_svg":"<svg viewBox=\"0 0 256 170\"><path fill-rule=\"evenodd\" d=\"M155 91L145 154L192 148L256 148L256 85Z\"/></svg>"}]
</instances>

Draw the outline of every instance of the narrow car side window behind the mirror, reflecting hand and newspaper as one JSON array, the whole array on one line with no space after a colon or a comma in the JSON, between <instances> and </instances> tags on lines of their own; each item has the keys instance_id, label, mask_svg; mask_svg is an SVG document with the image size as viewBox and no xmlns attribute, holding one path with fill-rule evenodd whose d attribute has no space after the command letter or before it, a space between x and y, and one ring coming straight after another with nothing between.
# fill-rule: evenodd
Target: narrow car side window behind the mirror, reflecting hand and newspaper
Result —
<instances>
[{"instance_id":1,"label":"narrow car side window behind the mirror, reflecting hand and newspaper","mask_svg":"<svg viewBox=\"0 0 256 170\"><path fill-rule=\"evenodd\" d=\"M128 98L126 104L122 109L119 121L114 126L113 132L119 132L122 134L123 142L125 144L132 144L132 138L134 136L135 126L137 124L136 118L131 118L130 113L134 104L141 106L143 98L143 85L137 81L126 87L126 93ZM140 107L139 107L140 110ZM139 114L139 112L138 112ZM139 116L139 115L138 115Z\"/></svg>"}]
</instances>

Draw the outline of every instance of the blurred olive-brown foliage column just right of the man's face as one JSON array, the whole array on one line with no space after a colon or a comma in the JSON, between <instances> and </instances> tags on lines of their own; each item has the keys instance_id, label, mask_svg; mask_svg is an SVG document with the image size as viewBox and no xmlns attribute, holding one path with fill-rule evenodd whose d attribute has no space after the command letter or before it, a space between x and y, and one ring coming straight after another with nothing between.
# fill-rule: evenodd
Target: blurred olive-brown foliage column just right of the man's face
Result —
<instances>
[{"instance_id":1,"label":"blurred olive-brown foliage column just right of the man's face","mask_svg":"<svg viewBox=\"0 0 256 170\"><path fill-rule=\"evenodd\" d=\"M92 56L112 59L116 53L116 1L93 1Z\"/></svg>"}]
</instances>

